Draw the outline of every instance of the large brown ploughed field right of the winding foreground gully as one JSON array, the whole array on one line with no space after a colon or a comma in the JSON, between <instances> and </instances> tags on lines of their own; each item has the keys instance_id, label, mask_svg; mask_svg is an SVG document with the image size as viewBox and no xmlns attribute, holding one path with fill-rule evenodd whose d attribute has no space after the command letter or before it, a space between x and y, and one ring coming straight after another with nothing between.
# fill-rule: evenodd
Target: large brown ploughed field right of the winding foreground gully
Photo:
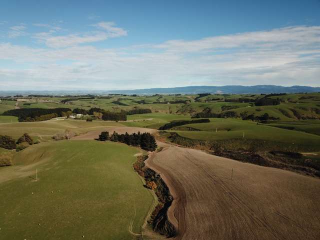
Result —
<instances>
[{"instance_id":1,"label":"large brown ploughed field right of the winding foreground gully","mask_svg":"<svg viewBox=\"0 0 320 240\"><path fill-rule=\"evenodd\" d=\"M320 239L320 179L177 146L146 165L173 195L174 239Z\"/></svg>"}]
</instances>

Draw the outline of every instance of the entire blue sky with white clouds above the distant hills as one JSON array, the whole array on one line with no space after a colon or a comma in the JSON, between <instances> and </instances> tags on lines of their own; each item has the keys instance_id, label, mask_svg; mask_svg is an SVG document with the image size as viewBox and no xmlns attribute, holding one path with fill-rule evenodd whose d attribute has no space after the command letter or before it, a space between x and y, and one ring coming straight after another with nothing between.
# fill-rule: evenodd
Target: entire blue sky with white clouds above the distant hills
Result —
<instances>
[{"instance_id":1,"label":"entire blue sky with white clouds above the distant hills","mask_svg":"<svg viewBox=\"0 0 320 240\"><path fill-rule=\"evenodd\" d=\"M320 86L320 0L0 0L0 90Z\"/></svg>"}]
</instances>

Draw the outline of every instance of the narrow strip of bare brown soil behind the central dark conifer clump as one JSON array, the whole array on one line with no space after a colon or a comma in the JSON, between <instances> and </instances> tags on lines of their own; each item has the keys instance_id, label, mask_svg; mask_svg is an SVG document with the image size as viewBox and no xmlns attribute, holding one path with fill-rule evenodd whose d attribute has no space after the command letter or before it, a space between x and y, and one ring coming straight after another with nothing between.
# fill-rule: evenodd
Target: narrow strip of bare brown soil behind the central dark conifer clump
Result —
<instances>
[{"instance_id":1,"label":"narrow strip of bare brown soil behind the central dark conifer clump","mask_svg":"<svg viewBox=\"0 0 320 240\"><path fill-rule=\"evenodd\" d=\"M110 127L105 127L103 129L99 129L99 130L88 131L87 133L79 135L79 136L74 136L74 137L72 137L72 140L90 140L90 139L98 138L101 131L108 131L109 134L112 134L113 131L115 131L119 134L123 134L125 132L132 134L133 132L137 133L138 131L154 133L157 130L143 128L143 127L110 126Z\"/></svg>"}]
</instances>

